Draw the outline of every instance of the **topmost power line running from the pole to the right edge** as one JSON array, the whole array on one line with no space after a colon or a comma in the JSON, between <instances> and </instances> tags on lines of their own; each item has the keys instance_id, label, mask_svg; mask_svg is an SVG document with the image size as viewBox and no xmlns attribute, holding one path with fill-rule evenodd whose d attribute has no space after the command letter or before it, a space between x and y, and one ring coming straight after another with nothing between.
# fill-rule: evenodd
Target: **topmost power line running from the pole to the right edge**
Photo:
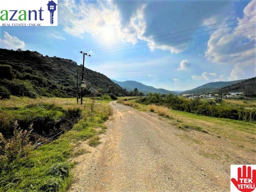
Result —
<instances>
[{"instance_id":1,"label":"topmost power line running from the pole to the right edge","mask_svg":"<svg viewBox=\"0 0 256 192\"><path fill-rule=\"evenodd\" d=\"M256 15L256 14L255 14L255 15ZM172 35L172 34L181 33L181 32L185 32L185 31L195 30L195 29L204 28L204 27L208 27L208 26L212 26L212 25L216 25L216 24L221 24L221 23L230 22L230 21L234 21L234 20L244 19L244 18L248 18L248 17L255 16L255 15L250 15L250 16L246 16L246 17L236 18L236 19L232 19L232 20L228 20L228 21L222 21L222 22L215 23L215 24L210 24L210 25L205 25L205 26L201 26L201 27L196 27L196 28L192 28L192 29L187 29L187 30L183 30L183 31L178 31L178 32L174 32L174 33L169 33L169 34L165 34L165 35L155 36L155 37L146 38L146 39L142 39L142 40L138 40L138 41L127 42L127 43L123 43L123 44L112 45L112 46L107 46L107 47L98 48L98 49L92 49L92 50L88 50L88 51L86 51L86 52L94 51L94 50L99 50L99 49L104 49L104 48L109 48L109 47L114 47L114 46L119 46L119 45L124 45L124 44L128 44L128 43L140 42L140 41L144 41L144 40L148 40L148 39L152 39L152 38L157 38L157 37Z\"/></svg>"}]
</instances>

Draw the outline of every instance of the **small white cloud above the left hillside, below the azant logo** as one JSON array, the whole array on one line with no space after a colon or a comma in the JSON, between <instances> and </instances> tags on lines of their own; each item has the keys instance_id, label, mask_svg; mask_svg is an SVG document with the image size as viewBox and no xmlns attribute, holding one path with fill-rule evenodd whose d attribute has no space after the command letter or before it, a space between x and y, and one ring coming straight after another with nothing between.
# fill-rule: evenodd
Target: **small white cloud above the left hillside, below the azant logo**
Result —
<instances>
[{"instance_id":1,"label":"small white cloud above the left hillside, below the azant logo","mask_svg":"<svg viewBox=\"0 0 256 192\"><path fill-rule=\"evenodd\" d=\"M0 45L2 48L6 49L23 49L25 47L24 41L19 40L15 36L11 36L7 32L4 32L4 38L0 39Z\"/></svg>"}]
</instances>

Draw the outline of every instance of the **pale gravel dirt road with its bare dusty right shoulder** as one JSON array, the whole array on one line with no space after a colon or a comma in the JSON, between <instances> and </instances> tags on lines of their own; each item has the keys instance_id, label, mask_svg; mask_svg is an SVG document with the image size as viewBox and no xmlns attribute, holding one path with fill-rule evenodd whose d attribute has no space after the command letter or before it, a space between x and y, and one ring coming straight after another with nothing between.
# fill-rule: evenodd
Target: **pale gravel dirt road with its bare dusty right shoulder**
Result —
<instances>
[{"instance_id":1,"label":"pale gravel dirt road with its bare dusty right shoulder","mask_svg":"<svg viewBox=\"0 0 256 192\"><path fill-rule=\"evenodd\" d=\"M203 145L188 142L180 137L185 131L166 118L116 102L111 106L114 112L101 135L102 144L80 146L90 153L74 159L78 164L68 191L230 191L230 164L239 162L232 156L215 159L204 153L212 150L212 145L220 152L234 153L232 144L202 132L195 135L205 141Z\"/></svg>"}]
</instances>

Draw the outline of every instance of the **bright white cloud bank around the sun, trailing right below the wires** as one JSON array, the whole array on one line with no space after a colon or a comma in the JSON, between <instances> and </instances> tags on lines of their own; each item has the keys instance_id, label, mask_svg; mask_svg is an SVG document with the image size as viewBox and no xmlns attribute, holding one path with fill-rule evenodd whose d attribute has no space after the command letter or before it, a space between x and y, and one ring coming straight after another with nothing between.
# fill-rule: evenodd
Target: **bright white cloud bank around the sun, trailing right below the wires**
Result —
<instances>
[{"instance_id":1,"label":"bright white cloud bank around the sun, trailing right below the wires","mask_svg":"<svg viewBox=\"0 0 256 192\"><path fill-rule=\"evenodd\" d=\"M140 3L136 11L130 16L127 23L122 23L122 12L113 1L97 1L89 3L88 1L64 0L60 6L60 24L64 26L64 31L73 36L83 38L83 34L92 34L93 36L112 36L112 43L116 37L122 42L134 42L152 38L146 33L147 23L145 19L145 8L147 4ZM127 18L126 18L127 19ZM157 45L160 43L152 42L154 38L145 40L150 46L150 50L161 49L168 50L171 53L180 53L188 48L187 42L179 44ZM133 44L136 44L135 42Z\"/></svg>"}]
</instances>

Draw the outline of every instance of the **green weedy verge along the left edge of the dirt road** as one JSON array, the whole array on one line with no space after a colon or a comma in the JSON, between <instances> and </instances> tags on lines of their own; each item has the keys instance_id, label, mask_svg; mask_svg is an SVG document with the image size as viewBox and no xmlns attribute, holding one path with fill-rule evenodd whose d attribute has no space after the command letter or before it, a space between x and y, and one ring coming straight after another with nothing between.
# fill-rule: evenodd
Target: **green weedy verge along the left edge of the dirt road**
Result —
<instances>
[{"instance_id":1,"label":"green weedy verge along the left edge of the dirt road","mask_svg":"<svg viewBox=\"0 0 256 192\"><path fill-rule=\"evenodd\" d=\"M48 98L48 100L50 99ZM69 163L69 158L83 152L72 154L74 146L77 146L80 141L88 139L90 139L88 144L91 146L100 143L98 137L100 130L98 131L96 128L106 129L102 123L112 113L108 104L96 101L93 110L91 110L90 99L87 103L84 102L83 106L76 106L75 103L73 104L73 100L69 104L71 99L54 98L53 100L57 100L58 102L54 103L65 108L68 116L73 114L74 109L79 108L81 111L80 120L72 125L73 129L60 135L57 140L40 146L36 150L32 149L34 146L28 139L30 136L29 129L22 131L17 128L14 133L16 139L13 142L0 134L0 191L64 192L71 183L70 168L74 166L73 163ZM68 112L68 110L70 111ZM18 157L13 158L14 150L11 150L13 153L6 152L9 149L15 149L15 154ZM7 156L13 160L9 161Z\"/></svg>"}]
</instances>

